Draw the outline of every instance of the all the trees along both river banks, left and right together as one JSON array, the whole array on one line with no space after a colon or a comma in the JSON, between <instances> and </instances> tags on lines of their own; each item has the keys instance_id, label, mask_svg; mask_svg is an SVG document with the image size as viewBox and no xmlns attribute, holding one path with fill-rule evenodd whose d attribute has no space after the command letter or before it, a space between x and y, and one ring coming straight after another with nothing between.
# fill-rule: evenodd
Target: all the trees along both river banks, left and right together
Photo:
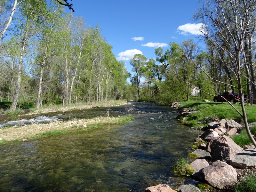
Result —
<instances>
[{"instance_id":1,"label":"all the trees along both river banks, left and right together","mask_svg":"<svg viewBox=\"0 0 256 192\"><path fill-rule=\"evenodd\" d=\"M132 76L100 27L65 14L59 1L0 0L1 98L12 101L12 109L29 102L39 108L46 102L69 105L121 96L170 104L188 100L196 88L206 99L228 90L246 93L252 104L255 0L199 3L194 19L202 23L205 48L188 39L155 49L155 59L135 55Z\"/></svg>"}]
</instances>

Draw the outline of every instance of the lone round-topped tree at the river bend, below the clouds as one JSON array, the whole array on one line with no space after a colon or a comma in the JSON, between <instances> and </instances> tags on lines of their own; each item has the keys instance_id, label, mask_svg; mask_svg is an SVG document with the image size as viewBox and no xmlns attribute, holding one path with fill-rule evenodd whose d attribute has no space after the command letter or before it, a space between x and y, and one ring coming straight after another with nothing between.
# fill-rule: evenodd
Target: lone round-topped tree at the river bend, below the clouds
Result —
<instances>
[{"instance_id":1,"label":"lone round-topped tree at the river bend, below the clouds","mask_svg":"<svg viewBox=\"0 0 256 192\"><path fill-rule=\"evenodd\" d=\"M137 93L140 100L140 79L142 77L143 72L145 71L145 64L147 58L142 54L136 54L130 60L130 64L132 65L132 70L135 72L134 80L137 83Z\"/></svg>"}]
</instances>

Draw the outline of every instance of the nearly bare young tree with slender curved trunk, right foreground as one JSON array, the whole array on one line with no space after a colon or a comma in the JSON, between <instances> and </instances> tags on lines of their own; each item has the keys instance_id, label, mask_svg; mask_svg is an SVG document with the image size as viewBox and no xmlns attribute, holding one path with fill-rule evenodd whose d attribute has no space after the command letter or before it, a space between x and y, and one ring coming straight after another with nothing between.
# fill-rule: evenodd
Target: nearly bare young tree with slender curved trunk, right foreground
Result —
<instances>
[{"instance_id":1,"label":"nearly bare young tree with slender curved trunk, right foreground","mask_svg":"<svg viewBox=\"0 0 256 192\"><path fill-rule=\"evenodd\" d=\"M220 61L225 66L226 71L230 73L229 78L232 77L233 79L230 81L232 84L226 84L232 90L238 90L242 112L231 103L230 105L243 118L246 132L256 147L256 142L247 122L242 82L244 70L248 69L247 67L244 68L247 64L245 44L248 36L254 36L255 9L255 0L205 0L196 15L196 19L200 19L204 23L201 29L203 37L217 50ZM228 59L228 62L226 59ZM207 74L207 71L205 72ZM246 76L248 82L255 84L248 74ZM210 76L208 75L208 77ZM225 84L225 82L221 83Z\"/></svg>"}]
</instances>

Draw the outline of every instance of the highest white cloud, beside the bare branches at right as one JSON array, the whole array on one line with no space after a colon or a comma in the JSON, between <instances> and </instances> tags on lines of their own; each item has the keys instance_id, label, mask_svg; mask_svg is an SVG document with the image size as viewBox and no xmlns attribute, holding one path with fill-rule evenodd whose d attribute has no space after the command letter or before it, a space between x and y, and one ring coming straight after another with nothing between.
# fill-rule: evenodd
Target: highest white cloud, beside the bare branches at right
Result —
<instances>
[{"instance_id":1,"label":"highest white cloud, beside the bare branches at right","mask_svg":"<svg viewBox=\"0 0 256 192\"><path fill-rule=\"evenodd\" d=\"M185 25L180 25L178 27L178 32L180 32L180 34L182 35L202 35L202 30L204 28L204 24L203 23L187 23Z\"/></svg>"}]
</instances>

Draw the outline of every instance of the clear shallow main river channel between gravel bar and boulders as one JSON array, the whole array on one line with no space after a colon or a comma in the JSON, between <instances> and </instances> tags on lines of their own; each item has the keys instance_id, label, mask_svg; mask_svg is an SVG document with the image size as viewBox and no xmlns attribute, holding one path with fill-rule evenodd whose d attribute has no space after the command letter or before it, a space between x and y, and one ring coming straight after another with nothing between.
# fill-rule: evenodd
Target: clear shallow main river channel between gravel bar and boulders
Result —
<instances>
[{"instance_id":1,"label":"clear shallow main river channel between gravel bar and boulders","mask_svg":"<svg viewBox=\"0 0 256 192\"><path fill-rule=\"evenodd\" d=\"M157 184L193 183L172 168L192 151L197 131L180 124L170 107L131 105L140 113L129 112L135 120L124 125L0 146L0 191L144 192ZM127 114L124 107L110 109L110 115ZM76 118L87 118L80 113Z\"/></svg>"}]
</instances>

